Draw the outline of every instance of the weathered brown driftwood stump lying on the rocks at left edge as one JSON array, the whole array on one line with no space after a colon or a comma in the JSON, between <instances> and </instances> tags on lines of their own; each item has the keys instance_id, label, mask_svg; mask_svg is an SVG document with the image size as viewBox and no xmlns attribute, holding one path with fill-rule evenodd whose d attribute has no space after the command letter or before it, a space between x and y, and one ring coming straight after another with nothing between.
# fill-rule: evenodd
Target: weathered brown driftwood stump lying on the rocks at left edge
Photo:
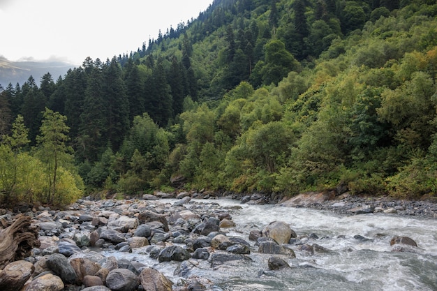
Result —
<instances>
[{"instance_id":1,"label":"weathered brown driftwood stump lying on the rocks at left edge","mask_svg":"<svg viewBox=\"0 0 437 291\"><path fill-rule=\"evenodd\" d=\"M6 221L1 221L5 227ZM17 216L11 225L0 230L0 270L7 264L28 257L32 248L40 246L38 230L30 216Z\"/></svg>"}]
</instances>

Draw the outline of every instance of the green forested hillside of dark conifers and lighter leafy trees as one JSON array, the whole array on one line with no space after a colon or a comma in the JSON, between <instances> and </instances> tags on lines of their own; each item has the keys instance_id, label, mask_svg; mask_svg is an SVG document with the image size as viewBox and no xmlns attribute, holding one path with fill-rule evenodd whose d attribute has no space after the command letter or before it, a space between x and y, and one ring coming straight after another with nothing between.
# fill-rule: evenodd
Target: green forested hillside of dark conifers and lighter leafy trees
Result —
<instances>
[{"instance_id":1,"label":"green forested hillside of dark conifers and lighter leafy trees","mask_svg":"<svg viewBox=\"0 0 437 291\"><path fill-rule=\"evenodd\" d=\"M3 202L161 188L435 197L435 1L216 0L0 94Z\"/></svg>"}]
</instances>

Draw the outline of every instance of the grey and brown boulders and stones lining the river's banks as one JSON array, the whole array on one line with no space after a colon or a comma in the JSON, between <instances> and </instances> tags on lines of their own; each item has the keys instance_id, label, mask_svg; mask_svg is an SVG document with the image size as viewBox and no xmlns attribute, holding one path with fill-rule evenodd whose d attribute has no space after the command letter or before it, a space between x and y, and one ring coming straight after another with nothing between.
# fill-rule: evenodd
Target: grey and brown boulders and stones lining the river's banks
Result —
<instances>
[{"instance_id":1,"label":"grey and brown boulders and stones lining the river's banks","mask_svg":"<svg viewBox=\"0 0 437 291\"><path fill-rule=\"evenodd\" d=\"M84 199L63 211L23 207L22 213L38 227L40 246L31 251L29 258L10 263L0 271L0 290L219 291L212 278L198 276L197 270L216 270L219 276L221 270L238 272L244 264L262 262L262 268L276 271L290 267L288 262L296 257L329 252L320 246L316 234L296 232L281 221L266 222L267 226L251 230L244 239L232 237L228 230L241 232L232 221L232 214L240 207L195 202L193 197L217 196L156 193L131 200ZM170 203L163 198L175 199ZM260 194L239 199L248 204L272 202ZM332 193L274 199L278 207L313 207L351 215L385 212L436 217L437 213L431 202L346 195L332 199ZM15 214L5 209L2 212L1 221L13 221ZM367 238L357 234L356 239ZM392 251L420 251L408 237L387 238L387 244L392 245ZM147 256L147 260L128 260L119 253L135 253ZM268 262L262 259L266 255ZM170 275L158 271L163 266L172 269Z\"/></svg>"}]
</instances>

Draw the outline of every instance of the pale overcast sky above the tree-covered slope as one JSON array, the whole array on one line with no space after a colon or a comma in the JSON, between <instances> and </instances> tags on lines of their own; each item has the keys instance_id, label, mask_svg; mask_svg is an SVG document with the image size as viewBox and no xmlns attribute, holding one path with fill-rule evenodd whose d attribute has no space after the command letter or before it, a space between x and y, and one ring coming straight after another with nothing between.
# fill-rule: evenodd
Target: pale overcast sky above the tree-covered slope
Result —
<instances>
[{"instance_id":1,"label":"pale overcast sky above the tree-covered slope","mask_svg":"<svg viewBox=\"0 0 437 291\"><path fill-rule=\"evenodd\" d=\"M0 0L0 56L80 65L130 53L213 0Z\"/></svg>"}]
</instances>

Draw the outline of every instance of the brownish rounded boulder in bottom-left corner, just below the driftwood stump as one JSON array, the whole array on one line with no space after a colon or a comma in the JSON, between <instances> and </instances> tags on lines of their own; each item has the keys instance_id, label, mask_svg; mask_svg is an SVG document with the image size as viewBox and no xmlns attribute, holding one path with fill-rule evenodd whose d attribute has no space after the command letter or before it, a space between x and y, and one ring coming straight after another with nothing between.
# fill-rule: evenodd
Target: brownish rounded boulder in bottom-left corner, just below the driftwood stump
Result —
<instances>
[{"instance_id":1,"label":"brownish rounded boulder in bottom-left corner, just below the driftwood stump","mask_svg":"<svg viewBox=\"0 0 437 291\"><path fill-rule=\"evenodd\" d=\"M11 262L0 270L0 290L20 290L35 271L34 264L24 260Z\"/></svg>"}]
</instances>

